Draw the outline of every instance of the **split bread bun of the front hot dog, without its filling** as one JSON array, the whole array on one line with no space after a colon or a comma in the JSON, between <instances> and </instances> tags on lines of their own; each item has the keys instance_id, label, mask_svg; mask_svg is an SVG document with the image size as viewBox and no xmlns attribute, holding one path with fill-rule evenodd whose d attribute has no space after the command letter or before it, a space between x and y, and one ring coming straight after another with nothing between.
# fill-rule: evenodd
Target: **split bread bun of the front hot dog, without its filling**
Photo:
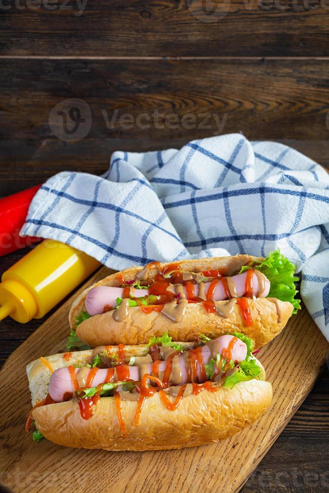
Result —
<instances>
[{"instance_id":1,"label":"split bread bun of the front hot dog, without its filling","mask_svg":"<svg viewBox=\"0 0 329 493\"><path fill-rule=\"evenodd\" d=\"M193 343L182 343L185 350L192 349ZM125 360L131 356L144 356L148 347L126 346ZM115 353L117 347L111 348ZM40 403L48 393L53 370L73 365L86 366L92 362L95 352L79 351L55 354L30 363L27 375L32 395L32 404ZM76 448L101 448L105 450L158 450L193 447L222 440L240 429L253 424L269 406L272 399L272 386L265 380L265 370L261 368L260 380L239 382L233 389L217 386L217 391L204 389L197 395L191 394L192 384L185 385L179 406L170 410L161 401L159 392L146 397L139 415L139 422L133 425L138 401L128 391L120 392L120 409L126 429L118 421L115 397L101 397L93 407L94 414L84 419L80 413L77 398L66 402L41 405L32 412L37 429L50 441L59 445ZM190 386L188 388L188 386ZM164 392L176 394L183 387L170 387ZM188 392L190 390L190 392ZM134 397L139 396L135 392ZM174 401L173 395L167 395ZM130 397L130 398L129 398Z\"/></svg>"}]
</instances>

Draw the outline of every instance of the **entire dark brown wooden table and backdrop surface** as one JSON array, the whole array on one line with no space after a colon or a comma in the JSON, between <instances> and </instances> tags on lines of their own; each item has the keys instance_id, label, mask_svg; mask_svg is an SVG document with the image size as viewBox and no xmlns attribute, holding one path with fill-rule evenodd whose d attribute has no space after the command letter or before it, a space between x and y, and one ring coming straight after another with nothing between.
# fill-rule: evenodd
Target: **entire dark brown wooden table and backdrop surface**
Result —
<instances>
[{"instance_id":1,"label":"entire dark brown wooden table and backdrop surface","mask_svg":"<svg viewBox=\"0 0 329 493\"><path fill-rule=\"evenodd\" d=\"M101 174L114 150L229 132L329 167L328 10L317 0L88 0L83 12L3 2L0 196L63 170ZM67 99L81 115L87 107L83 138L56 127L51 110ZM1 258L0 272L26 251ZM42 321L1 322L2 363ZM326 369L244 492L329 491L328 384Z\"/></svg>"}]
</instances>

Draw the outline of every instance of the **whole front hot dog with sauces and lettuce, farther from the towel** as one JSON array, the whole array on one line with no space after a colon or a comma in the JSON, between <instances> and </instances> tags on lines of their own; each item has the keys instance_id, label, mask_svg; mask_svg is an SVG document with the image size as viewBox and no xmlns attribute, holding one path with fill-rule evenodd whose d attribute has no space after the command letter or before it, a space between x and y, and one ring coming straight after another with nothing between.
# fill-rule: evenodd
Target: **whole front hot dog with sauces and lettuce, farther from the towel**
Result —
<instances>
[{"instance_id":1,"label":"whole front hot dog with sauces and lettuce, farther from the towel","mask_svg":"<svg viewBox=\"0 0 329 493\"><path fill-rule=\"evenodd\" d=\"M178 449L224 439L272 399L253 342L241 333L98 347L27 366L39 437L105 450ZM175 429L175 433L173 433Z\"/></svg>"}]
</instances>

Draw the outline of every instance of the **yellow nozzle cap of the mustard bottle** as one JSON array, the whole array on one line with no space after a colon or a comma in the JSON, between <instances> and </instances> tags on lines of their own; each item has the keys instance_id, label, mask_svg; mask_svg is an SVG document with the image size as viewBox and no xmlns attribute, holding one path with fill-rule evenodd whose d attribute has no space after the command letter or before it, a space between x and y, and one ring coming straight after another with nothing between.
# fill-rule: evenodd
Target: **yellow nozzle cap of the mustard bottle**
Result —
<instances>
[{"instance_id":1,"label":"yellow nozzle cap of the mustard bottle","mask_svg":"<svg viewBox=\"0 0 329 493\"><path fill-rule=\"evenodd\" d=\"M10 315L18 322L27 323L37 311L37 301L23 283L14 279L0 283L0 320Z\"/></svg>"}]
</instances>

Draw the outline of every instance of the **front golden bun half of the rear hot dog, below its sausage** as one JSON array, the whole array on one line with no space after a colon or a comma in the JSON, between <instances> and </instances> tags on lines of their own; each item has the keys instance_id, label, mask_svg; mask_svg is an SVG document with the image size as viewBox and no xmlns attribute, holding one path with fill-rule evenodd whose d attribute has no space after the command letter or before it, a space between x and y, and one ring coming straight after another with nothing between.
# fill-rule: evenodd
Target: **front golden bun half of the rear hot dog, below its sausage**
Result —
<instances>
[{"instance_id":1,"label":"front golden bun half of the rear hot dog, below its sausage","mask_svg":"<svg viewBox=\"0 0 329 493\"><path fill-rule=\"evenodd\" d=\"M223 302L225 303L225 302ZM168 335L176 341L194 341L200 334L215 339L222 334L242 332L251 337L260 348L277 336L292 314L293 306L287 301L277 300L277 305L267 298L248 300L253 325L244 324L237 304L228 318L217 313L207 313L200 303L189 303L181 322L173 322L162 313L152 311L144 313L136 306L128 309L128 316L116 322L112 312L95 315L76 328L76 335L89 346L100 344L146 344L153 336Z\"/></svg>"}]
</instances>

